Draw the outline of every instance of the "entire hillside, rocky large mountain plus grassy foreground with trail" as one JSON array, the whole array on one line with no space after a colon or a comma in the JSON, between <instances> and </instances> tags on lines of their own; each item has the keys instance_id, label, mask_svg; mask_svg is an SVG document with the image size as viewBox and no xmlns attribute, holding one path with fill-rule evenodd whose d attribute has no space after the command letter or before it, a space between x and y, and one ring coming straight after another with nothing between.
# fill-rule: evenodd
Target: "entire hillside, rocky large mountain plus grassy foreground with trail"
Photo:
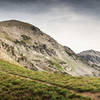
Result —
<instances>
[{"instance_id":1,"label":"entire hillside, rocky large mountain plus grassy foreground with trail","mask_svg":"<svg viewBox=\"0 0 100 100\"><path fill-rule=\"evenodd\" d=\"M99 75L39 28L0 22L0 100L99 100Z\"/></svg>"}]
</instances>

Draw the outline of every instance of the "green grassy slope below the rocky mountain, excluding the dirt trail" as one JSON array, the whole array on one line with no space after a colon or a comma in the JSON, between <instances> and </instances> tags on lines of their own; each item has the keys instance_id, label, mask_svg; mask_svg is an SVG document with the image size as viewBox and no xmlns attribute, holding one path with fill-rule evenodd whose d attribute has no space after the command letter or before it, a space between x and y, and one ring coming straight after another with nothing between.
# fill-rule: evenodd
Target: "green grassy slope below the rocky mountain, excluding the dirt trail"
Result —
<instances>
[{"instance_id":1,"label":"green grassy slope below the rocky mountain, excluding the dirt trail","mask_svg":"<svg viewBox=\"0 0 100 100\"><path fill-rule=\"evenodd\" d=\"M0 99L2 100L8 98L9 100L25 100L25 98L26 100L90 100L72 93L71 90L100 92L100 79L35 72L0 60Z\"/></svg>"}]
</instances>

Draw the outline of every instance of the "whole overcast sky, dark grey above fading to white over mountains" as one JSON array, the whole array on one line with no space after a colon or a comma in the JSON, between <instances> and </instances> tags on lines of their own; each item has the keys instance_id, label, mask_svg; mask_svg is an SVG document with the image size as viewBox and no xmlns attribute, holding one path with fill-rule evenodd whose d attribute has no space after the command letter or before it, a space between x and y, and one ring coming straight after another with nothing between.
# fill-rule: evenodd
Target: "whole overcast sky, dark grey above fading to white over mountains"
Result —
<instances>
[{"instance_id":1,"label":"whole overcast sky, dark grey above fading to white over mountains","mask_svg":"<svg viewBox=\"0 0 100 100\"><path fill-rule=\"evenodd\" d=\"M39 27L75 52L100 51L100 0L0 0L0 21Z\"/></svg>"}]
</instances>

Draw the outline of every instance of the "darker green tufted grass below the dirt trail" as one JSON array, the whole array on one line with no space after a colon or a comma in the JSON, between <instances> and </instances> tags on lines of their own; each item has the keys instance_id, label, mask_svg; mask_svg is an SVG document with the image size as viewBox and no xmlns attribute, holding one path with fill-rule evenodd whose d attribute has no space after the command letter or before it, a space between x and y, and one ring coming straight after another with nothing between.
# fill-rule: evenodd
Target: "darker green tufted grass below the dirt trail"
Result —
<instances>
[{"instance_id":1,"label":"darker green tufted grass below the dirt trail","mask_svg":"<svg viewBox=\"0 0 100 100\"><path fill-rule=\"evenodd\" d=\"M0 100L91 100L69 90L42 85L0 72Z\"/></svg>"}]
</instances>

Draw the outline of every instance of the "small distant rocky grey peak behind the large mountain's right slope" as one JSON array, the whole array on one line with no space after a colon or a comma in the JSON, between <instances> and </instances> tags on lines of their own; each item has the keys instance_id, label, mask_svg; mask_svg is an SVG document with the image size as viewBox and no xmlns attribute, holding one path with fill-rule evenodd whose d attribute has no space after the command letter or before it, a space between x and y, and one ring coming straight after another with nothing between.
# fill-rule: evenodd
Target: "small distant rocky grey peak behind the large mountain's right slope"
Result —
<instances>
[{"instance_id":1,"label":"small distant rocky grey peak behind the large mountain's right slope","mask_svg":"<svg viewBox=\"0 0 100 100\"><path fill-rule=\"evenodd\" d=\"M92 65L92 67L100 70L100 52L95 50L87 50L80 52L78 56Z\"/></svg>"}]
</instances>

